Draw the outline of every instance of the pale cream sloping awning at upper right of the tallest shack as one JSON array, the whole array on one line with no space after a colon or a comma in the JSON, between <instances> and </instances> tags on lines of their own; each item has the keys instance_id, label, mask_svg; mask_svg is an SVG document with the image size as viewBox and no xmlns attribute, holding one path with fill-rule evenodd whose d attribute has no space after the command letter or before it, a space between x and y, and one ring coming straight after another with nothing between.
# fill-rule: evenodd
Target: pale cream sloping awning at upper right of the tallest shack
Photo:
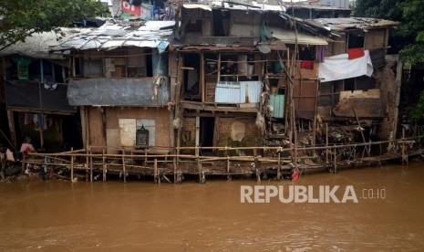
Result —
<instances>
[{"instance_id":1,"label":"pale cream sloping awning at upper right of the tallest shack","mask_svg":"<svg viewBox=\"0 0 424 252\"><path fill-rule=\"evenodd\" d=\"M296 34L295 30L285 30L276 27L269 27L271 30L271 35L276 39L286 43L286 44L295 44L296 43ZM314 35L309 35L301 32L297 32L297 44L301 45L328 45L328 42L323 37L317 37Z\"/></svg>"}]
</instances>

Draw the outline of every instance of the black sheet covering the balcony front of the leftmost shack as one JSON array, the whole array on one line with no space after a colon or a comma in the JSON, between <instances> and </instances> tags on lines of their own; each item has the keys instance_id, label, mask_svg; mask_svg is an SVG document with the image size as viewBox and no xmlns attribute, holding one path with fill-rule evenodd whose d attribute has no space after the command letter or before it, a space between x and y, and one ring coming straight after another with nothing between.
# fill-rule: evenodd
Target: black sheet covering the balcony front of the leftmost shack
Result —
<instances>
[{"instance_id":1,"label":"black sheet covering the balcony front of the leftmost shack","mask_svg":"<svg viewBox=\"0 0 424 252\"><path fill-rule=\"evenodd\" d=\"M45 84L40 82L6 81L5 92L8 109L42 110L47 113L74 113L77 111L67 103L66 84L47 85L46 88Z\"/></svg>"}]
</instances>

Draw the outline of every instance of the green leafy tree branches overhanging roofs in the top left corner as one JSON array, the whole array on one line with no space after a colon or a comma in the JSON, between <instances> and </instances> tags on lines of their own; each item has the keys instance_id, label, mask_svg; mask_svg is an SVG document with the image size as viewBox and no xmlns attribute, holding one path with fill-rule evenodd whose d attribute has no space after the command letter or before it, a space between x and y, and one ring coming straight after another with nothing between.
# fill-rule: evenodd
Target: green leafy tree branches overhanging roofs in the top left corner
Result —
<instances>
[{"instance_id":1,"label":"green leafy tree branches overhanging roofs in the top left corner","mask_svg":"<svg viewBox=\"0 0 424 252\"><path fill-rule=\"evenodd\" d=\"M0 50L35 33L70 26L76 19L99 16L106 7L97 0L3 0L0 3Z\"/></svg>"}]
</instances>

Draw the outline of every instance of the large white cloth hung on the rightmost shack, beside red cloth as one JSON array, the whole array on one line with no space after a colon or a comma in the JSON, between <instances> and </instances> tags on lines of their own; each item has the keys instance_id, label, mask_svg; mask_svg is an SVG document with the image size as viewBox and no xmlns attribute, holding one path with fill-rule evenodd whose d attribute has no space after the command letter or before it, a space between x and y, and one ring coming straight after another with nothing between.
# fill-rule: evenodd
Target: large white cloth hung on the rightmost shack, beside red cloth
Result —
<instances>
[{"instance_id":1,"label":"large white cloth hung on the rightmost shack, beside red cloth","mask_svg":"<svg viewBox=\"0 0 424 252\"><path fill-rule=\"evenodd\" d=\"M326 58L323 63L319 63L318 78L321 82L326 82L363 75L371 76L374 68L369 51L366 50L364 53L364 57L355 59L348 59L346 53Z\"/></svg>"}]
</instances>

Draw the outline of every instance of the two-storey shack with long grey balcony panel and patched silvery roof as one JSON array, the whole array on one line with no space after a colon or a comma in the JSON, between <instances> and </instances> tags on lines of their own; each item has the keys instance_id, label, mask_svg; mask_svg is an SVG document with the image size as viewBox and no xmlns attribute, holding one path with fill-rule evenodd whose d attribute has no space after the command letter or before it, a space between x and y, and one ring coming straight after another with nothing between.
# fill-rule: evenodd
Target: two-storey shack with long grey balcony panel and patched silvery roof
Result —
<instances>
[{"instance_id":1,"label":"two-storey shack with long grey balcony panel and patched silvery roof","mask_svg":"<svg viewBox=\"0 0 424 252\"><path fill-rule=\"evenodd\" d=\"M174 21L109 21L53 48L70 52L67 99L79 108L87 149L171 146L165 50L172 26Z\"/></svg>"}]
</instances>

